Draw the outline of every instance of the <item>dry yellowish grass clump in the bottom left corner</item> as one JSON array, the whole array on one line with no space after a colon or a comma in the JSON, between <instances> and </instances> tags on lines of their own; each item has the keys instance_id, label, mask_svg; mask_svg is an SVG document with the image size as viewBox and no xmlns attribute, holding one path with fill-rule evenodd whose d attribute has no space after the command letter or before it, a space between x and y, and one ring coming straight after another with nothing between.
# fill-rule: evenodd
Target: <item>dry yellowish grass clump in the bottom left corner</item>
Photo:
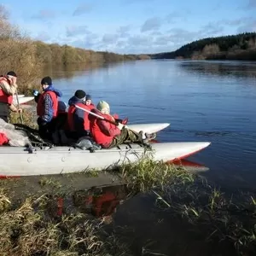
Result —
<instances>
[{"instance_id":1,"label":"dry yellowish grass clump in the bottom left corner","mask_svg":"<svg viewBox=\"0 0 256 256\"><path fill-rule=\"evenodd\" d=\"M41 195L19 204L0 191L1 255L129 255L100 219L82 213L56 216L55 198Z\"/></svg>"}]
</instances>

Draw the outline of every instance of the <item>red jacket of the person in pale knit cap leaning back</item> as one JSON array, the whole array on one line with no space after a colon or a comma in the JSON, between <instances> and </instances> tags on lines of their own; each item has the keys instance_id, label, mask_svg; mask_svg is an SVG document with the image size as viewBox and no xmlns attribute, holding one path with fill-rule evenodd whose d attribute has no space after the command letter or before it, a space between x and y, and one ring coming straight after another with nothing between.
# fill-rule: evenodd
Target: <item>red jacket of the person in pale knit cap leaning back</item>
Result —
<instances>
[{"instance_id":1,"label":"red jacket of the person in pale knit cap leaning back","mask_svg":"<svg viewBox=\"0 0 256 256\"><path fill-rule=\"evenodd\" d=\"M103 118L112 120L113 117L109 114L103 114L96 108L91 110L92 113L101 115ZM97 118L90 114L90 133L97 144L102 145L102 148L108 148L109 144L112 143L113 137L118 136L121 131L116 125L109 123L103 119Z\"/></svg>"}]
</instances>

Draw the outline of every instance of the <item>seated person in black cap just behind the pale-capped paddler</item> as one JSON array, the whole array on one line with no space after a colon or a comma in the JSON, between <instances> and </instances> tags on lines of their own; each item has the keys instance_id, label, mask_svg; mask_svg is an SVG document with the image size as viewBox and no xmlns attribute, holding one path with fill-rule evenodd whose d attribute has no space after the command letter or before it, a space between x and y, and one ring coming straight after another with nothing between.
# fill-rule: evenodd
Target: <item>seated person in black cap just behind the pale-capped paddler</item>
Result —
<instances>
[{"instance_id":1,"label":"seated person in black cap just behind the pale-capped paddler","mask_svg":"<svg viewBox=\"0 0 256 256\"><path fill-rule=\"evenodd\" d=\"M79 137L88 136L90 132L90 121L88 112L90 107L85 105L86 93L84 90L76 90L74 96L68 101L67 122L70 137L79 139Z\"/></svg>"}]
</instances>

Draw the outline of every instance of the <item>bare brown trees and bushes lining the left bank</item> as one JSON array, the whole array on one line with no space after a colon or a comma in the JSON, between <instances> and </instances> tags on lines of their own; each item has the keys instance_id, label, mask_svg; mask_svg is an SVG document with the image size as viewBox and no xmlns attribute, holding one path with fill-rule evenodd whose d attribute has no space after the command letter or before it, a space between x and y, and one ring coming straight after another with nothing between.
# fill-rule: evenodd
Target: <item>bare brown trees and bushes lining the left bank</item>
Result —
<instances>
[{"instance_id":1,"label":"bare brown trees and bushes lining the left bank","mask_svg":"<svg viewBox=\"0 0 256 256\"><path fill-rule=\"evenodd\" d=\"M105 62L150 59L148 55L119 55L112 52L74 48L68 45L34 41L9 22L9 13L0 4L0 75L14 70L19 92L26 93L39 84L44 66L70 64L100 66Z\"/></svg>"}]
</instances>

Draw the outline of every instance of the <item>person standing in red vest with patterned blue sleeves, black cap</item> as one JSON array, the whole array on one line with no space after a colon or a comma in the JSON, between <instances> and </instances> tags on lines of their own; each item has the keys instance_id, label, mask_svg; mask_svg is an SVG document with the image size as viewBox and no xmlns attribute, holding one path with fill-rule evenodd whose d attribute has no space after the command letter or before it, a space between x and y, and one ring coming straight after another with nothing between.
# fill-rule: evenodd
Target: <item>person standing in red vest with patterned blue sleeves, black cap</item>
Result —
<instances>
[{"instance_id":1,"label":"person standing in red vest with patterned blue sleeves, black cap","mask_svg":"<svg viewBox=\"0 0 256 256\"><path fill-rule=\"evenodd\" d=\"M41 85L43 93L33 91L35 102L38 103L38 131L40 137L51 140L52 124L58 112L58 97L62 96L62 92L54 88L50 77L44 77Z\"/></svg>"}]
</instances>

